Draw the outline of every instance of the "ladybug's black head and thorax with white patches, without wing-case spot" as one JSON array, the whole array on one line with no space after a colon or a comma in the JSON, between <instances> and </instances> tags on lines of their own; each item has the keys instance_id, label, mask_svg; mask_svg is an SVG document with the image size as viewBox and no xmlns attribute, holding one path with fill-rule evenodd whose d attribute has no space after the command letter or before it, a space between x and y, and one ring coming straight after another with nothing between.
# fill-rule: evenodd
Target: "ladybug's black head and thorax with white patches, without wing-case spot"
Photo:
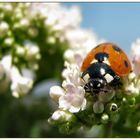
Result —
<instances>
[{"instance_id":1,"label":"ladybug's black head and thorax with white patches, without wing-case spot","mask_svg":"<svg viewBox=\"0 0 140 140\"><path fill-rule=\"evenodd\" d=\"M120 77L115 74L111 67L105 63L93 63L82 73L85 81L86 92L99 93L107 92L109 87L116 87L120 83Z\"/></svg>"}]
</instances>

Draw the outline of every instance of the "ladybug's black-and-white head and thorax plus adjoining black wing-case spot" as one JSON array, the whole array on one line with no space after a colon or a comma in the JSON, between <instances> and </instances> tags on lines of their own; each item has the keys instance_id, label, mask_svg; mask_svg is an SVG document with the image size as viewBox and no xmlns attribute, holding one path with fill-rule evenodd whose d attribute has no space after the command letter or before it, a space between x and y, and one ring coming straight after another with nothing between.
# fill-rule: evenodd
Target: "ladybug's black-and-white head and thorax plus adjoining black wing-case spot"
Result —
<instances>
[{"instance_id":1,"label":"ladybug's black-and-white head and thorax plus adjoining black wing-case spot","mask_svg":"<svg viewBox=\"0 0 140 140\"><path fill-rule=\"evenodd\" d=\"M107 53L97 53L90 67L82 73L82 78L86 82L84 87L86 92L98 93L104 90L106 85L116 86L119 82L118 76L111 69Z\"/></svg>"}]
</instances>

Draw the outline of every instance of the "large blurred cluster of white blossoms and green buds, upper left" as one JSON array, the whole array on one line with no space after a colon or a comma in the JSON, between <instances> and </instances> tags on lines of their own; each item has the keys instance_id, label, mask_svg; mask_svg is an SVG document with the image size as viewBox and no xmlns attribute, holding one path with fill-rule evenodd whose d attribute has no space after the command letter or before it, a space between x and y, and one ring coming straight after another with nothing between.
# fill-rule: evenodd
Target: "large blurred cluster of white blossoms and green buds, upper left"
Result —
<instances>
[{"instance_id":1,"label":"large blurred cluster of white blossoms and green buds, upper left","mask_svg":"<svg viewBox=\"0 0 140 140\"><path fill-rule=\"evenodd\" d=\"M60 77L63 53L71 46L67 34L81 21L78 7L68 10L58 3L1 3L0 20L1 92L10 87L12 95L19 97L27 94L34 82Z\"/></svg>"}]
</instances>

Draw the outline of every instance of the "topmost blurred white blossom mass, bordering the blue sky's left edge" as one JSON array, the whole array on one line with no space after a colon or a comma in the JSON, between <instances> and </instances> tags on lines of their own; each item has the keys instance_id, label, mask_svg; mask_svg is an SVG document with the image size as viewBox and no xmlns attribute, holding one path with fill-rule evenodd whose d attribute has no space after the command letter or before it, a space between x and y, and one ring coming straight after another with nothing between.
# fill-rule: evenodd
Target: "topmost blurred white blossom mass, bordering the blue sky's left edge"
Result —
<instances>
[{"instance_id":1,"label":"topmost blurred white blossom mass, bordering the blue sky's left edge","mask_svg":"<svg viewBox=\"0 0 140 140\"><path fill-rule=\"evenodd\" d=\"M32 3L29 6L29 18L37 15L45 17L46 26L52 26L54 30L63 30L78 26L81 21L78 7L65 8L59 3Z\"/></svg>"}]
</instances>

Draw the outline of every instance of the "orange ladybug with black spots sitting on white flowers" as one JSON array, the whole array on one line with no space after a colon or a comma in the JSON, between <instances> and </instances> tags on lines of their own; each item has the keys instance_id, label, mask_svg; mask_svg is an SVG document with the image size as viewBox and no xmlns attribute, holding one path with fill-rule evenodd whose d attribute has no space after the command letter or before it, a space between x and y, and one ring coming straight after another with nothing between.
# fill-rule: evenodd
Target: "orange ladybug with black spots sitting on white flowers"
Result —
<instances>
[{"instance_id":1,"label":"orange ladybug with black spots sitting on white flowers","mask_svg":"<svg viewBox=\"0 0 140 140\"><path fill-rule=\"evenodd\" d=\"M113 43L102 43L88 53L81 72L85 91L94 94L118 88L122 85L121 78L132 72L132 67L121 48Z\"/></svg>"}]
</instances>

